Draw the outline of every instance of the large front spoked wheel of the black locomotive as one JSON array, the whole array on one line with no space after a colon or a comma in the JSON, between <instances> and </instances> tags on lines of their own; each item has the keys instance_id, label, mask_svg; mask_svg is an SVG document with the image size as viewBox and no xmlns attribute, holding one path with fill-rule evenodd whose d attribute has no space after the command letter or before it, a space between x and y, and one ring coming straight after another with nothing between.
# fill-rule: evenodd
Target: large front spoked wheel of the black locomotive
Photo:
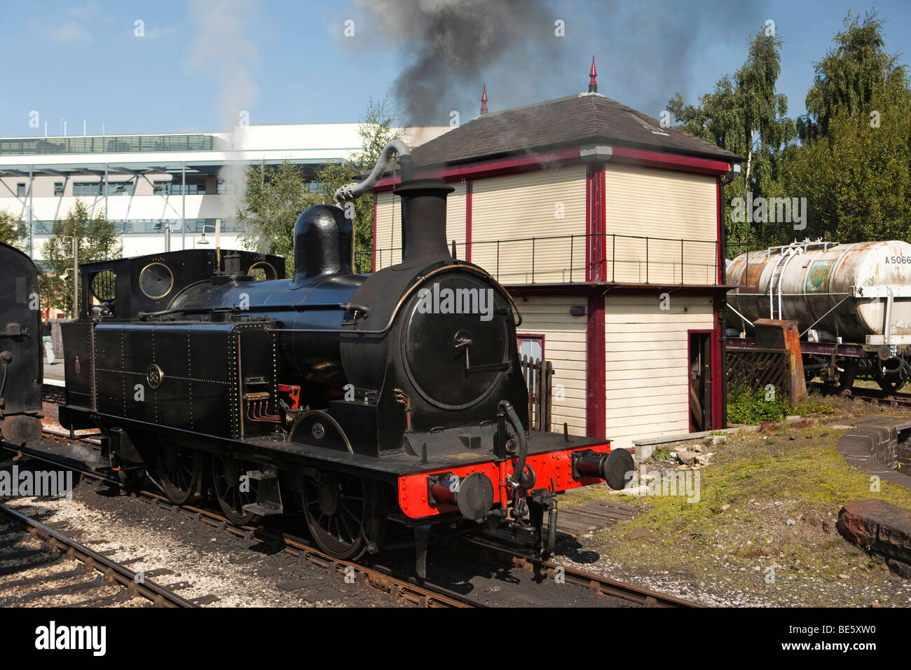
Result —
<instances>
[{"instance_id":1,"label":"large front spoked wheel of the black locomotive","mask_svg":"<svg viewBox=\"0 0 911 670\"><path fill-rule=\"evenodd\" d=\"M313 540L334 558L357 560L382 541L385 524L370 481L340 473L305 478L302 503Z\"/></svg>"}]
</instances>

